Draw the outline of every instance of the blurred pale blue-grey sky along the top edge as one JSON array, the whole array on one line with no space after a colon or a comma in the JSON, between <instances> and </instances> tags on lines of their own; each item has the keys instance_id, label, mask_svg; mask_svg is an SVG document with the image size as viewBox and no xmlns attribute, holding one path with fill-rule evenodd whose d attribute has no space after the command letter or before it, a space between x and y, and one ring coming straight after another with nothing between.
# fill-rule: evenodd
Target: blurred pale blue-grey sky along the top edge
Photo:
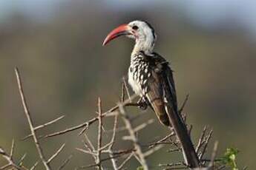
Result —
<instances>
[{"instance_id":1,"label":"blurred pale blue-grey sky along the top edge","mask_svg":"<svg viewBox=\"0 0 256 170\"><path fill-rule=\"evenodd\" d=\"M66 0L68 1L68 0ZM61 0L1 0L0 21L16 11L33 18L50 17ZM129 10L147 5L177 7L181 13L206 28L218 28L226 24L249 30L256 37L256 1L254 0L105 0L112 10Z\"/></svg>"}]
</instances>

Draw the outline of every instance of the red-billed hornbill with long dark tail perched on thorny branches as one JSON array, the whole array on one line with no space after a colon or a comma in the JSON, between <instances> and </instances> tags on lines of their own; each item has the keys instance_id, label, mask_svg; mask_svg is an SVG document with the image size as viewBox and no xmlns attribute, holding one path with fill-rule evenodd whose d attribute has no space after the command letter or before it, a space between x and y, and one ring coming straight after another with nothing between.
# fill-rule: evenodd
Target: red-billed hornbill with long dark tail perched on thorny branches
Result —
<instances>
[{"instance_id":1,"label":"red-billed hornbill with long dark tail perched on thorny branches","mask_svg":"<svg viewBox=\"0 0 256 170\"><path fill-rule=\"evenodd\" d=\"M199 160L183 119L177 109L174 78L168 61L153 52L156 34L153 27L145 21L131 21L122 24L105 38L103 45L114 38L126 35L136 41L131 52L131 66L128 83L140 96L140 106L150 106L157 118L165 126L172 126L180 140L186 163L191 168L199 166Z\"/></svg>"}]
</instances>

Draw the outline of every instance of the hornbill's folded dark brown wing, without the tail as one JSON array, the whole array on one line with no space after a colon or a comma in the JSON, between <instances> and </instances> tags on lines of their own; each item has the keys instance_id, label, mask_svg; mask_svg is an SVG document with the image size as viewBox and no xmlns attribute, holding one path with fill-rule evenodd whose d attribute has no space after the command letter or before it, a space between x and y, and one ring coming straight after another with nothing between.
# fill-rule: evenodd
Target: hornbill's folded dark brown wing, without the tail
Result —
<instances>
[{"instance_id":1,"label":"hornbill's folded dark brown wing, without the tail","mask_svg":"<svg viewBox=\"0 0 256 170\"><path fill-rule=\"evenodd\" d=\"M148 56L151 77L148 79L147 99L154 109L157 118L165 126L169 126L167 109L177 111L177 98L174 86L172 71L168 67L168 62L163 57L154 53Z\"/></svg>"}]
</instances>

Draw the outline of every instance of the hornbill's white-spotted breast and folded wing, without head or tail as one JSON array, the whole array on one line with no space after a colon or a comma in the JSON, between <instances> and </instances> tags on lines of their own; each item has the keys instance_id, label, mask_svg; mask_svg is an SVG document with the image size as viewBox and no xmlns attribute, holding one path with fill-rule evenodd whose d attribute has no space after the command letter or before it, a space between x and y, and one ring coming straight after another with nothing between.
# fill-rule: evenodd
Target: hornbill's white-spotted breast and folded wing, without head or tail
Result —
<instances>
[{"instance_id":1,"label":"hornbill's white-spotted breast and folded wing, without head or tail","mask_svg":"<svg viewBox=\"0 0 256 170\"><path fill-rule=\"evenodd\" d=\"M173 80L168 62L163 57L155 52L146 55L143 51L140 51L134 53L131 58L128 83L134 89L134 92L140 95L140 102L145 103L145 106L151 106L160 123L169 126L165 105L168 103L168 98L170 98L174 110L177 111L177 99L173 81L170 81L171 88L166 89L168 79L164 77L165 73ZM165 92L166 90L168 92ZM170 95L168 95L169 93Z\"/></svg>"}]
</instances>

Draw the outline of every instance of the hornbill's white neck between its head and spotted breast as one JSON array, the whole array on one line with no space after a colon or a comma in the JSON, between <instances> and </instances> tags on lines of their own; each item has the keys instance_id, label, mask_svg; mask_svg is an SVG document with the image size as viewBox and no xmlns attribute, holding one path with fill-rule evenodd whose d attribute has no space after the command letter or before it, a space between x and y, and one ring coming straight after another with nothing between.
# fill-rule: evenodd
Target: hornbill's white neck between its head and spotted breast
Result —
<instances>
[{"instance_id":1,"label":"hornbill's white neck between its head and spotted breast","mask_svg":"<svg viewBox=\"0 0 256 170\"><path fill-rule=\"evenodd\" d=\"M137 39L131 56L140 51L145 52L145 54L151 54L153 52L153 49L154 41L151 38Z\"/></svg>"}]
</instances>

